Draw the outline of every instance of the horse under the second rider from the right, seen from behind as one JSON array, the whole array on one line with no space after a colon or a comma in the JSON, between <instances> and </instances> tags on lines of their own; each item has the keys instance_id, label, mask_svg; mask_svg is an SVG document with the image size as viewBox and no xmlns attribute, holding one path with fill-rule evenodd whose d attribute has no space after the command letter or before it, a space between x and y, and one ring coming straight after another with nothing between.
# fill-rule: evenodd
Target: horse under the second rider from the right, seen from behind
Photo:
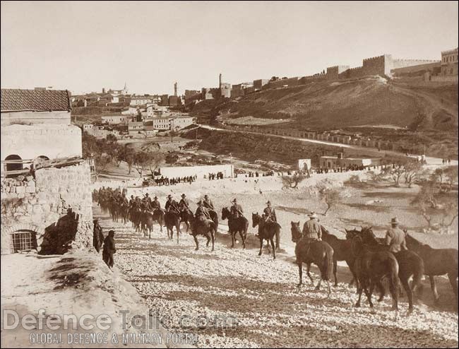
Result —
<instances>
[{"instance_id":1,"label":"horse under the second rider from the right, seen from behind","mask_svg":"<svg viewBox=\"0 0 459 349\"><path fill-rule=\"evenodd\" d=\"M309 276L309 279L314 286L314 280L309 273L311 264L314 263L321 271L321 278L318 281L316 290L321 288L322 280L325 280L328 286L328 297L330 297L330 280L331 271L333 270L333 248L324 241L310 241L308 239L303 239L302 231L299 229L299 222L292 222L292 227L290 230L292 232L292 242L297 244L295 247L295 256L297 256L299 271L298 287L303 284L303 263L306 263L306 274Z\"/></svg>"}]
</instances>

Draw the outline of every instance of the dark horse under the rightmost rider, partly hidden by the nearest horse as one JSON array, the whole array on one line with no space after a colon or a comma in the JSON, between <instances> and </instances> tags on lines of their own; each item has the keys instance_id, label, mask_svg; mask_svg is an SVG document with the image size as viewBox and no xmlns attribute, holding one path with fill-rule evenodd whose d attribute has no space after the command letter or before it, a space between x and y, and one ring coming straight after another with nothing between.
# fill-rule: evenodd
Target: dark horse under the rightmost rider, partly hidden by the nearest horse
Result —
<instances>
[{"instance_id":1,"label":"dark horse under the rightmost rider, partly hidden by the nearest horse","mask_svg":"<svg viewBox=\"0 0 459 349\"><path fill-rule=\"evenodd\" d=\"M369 249L372 251L388 251L388 246L381 244L376 236L374 235L371 227L362 227L362 232L360 232L362 237L362 242L368 245ZM395 259L398 262L398 278L400 278L400 283L402 283L403 288L408 297L408 312L413 310L413 292L419 288L422 289L421 279L424 275L424 262L421 257L418 256L415 252L403 250L397 253L393 253ZM408 280L413 278L412 285ZM384 288L381 288L380 300L384 297Z\"/></svg>"}]
</instances>

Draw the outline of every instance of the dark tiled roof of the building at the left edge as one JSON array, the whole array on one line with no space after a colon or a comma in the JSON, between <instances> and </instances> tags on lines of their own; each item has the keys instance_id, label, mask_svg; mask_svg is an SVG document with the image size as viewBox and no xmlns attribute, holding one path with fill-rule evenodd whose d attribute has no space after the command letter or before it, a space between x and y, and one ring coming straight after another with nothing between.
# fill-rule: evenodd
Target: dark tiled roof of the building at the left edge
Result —
<instances>
[{"instance_id":1,"label":"dark tiled roof of the building at the left edge","mask_svg":"<svg viewBox=\"0 0 459 349\"><path fill-rule=\"evenodd\" d=\"M1 89L1 111L71 110L67 90Z\"/></svg>"}]
</instances>

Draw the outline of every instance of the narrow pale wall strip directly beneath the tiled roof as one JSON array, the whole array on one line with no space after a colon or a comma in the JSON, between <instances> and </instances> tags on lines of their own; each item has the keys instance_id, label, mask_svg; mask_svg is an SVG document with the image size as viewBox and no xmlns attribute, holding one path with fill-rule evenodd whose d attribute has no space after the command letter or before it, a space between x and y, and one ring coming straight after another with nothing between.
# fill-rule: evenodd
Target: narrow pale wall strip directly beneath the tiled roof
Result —
<instances>
[{"instance_id":1,"label":"narrow pale wall strip directly beneath the tiled roof","mask_svg":"<svg viewBox=\"0 0 459 349\"><path fill-rule=\"evenodd\" d=\"M1 126L11 124L70 124L70 112L1 112Z\"/></svg>"}]
</instances>

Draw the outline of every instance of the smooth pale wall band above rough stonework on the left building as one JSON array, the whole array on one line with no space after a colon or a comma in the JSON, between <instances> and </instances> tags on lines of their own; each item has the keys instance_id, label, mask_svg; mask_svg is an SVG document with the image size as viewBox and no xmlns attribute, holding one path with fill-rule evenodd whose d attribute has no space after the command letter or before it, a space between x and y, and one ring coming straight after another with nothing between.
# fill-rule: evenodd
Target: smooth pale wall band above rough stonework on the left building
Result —
<instances>
[{"instance_id":1,"label":"smooth pale wall band above rough stonework on the left building","mask_svg":"<svg viewBox=\"0 0 459 349\"><path fill-rule=\"evenodd\" d=\"M1 160L8 155L49 159L82 155L81 129L73 125L10 125L1 127Z\"/></svg>"}]
</instances>

